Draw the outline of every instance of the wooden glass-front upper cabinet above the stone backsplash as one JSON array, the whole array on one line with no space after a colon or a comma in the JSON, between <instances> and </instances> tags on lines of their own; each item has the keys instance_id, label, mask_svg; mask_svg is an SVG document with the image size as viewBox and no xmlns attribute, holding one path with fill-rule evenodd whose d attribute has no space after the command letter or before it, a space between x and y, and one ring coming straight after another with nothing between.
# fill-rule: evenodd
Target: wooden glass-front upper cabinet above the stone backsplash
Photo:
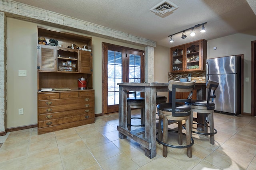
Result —
<instances>
[{"instance_id":1,"label":"wooden glass-front upper cabinet above the stone backsplash","mask_svg":"<svg viewBox=\"0 0 256 170\"><path fill-rule=\"evenodd\" d=\"M202 39L170 49L170 72L204 70L207 41Z\"/></svg>"}]
</instances>

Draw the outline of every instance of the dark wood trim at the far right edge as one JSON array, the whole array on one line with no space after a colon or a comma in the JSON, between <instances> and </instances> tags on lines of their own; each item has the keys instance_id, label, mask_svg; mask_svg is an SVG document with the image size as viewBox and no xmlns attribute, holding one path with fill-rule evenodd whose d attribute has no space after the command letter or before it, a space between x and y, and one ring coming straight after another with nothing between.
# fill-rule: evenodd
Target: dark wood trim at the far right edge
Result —
<instances>
[{"instance_id":1,"label":"dark wood trim at the far right edge","mask_svg":"<svg viewBox=\"0 0 256 170\"><path fill-rule=\"evenodd\" d=\"M251 115L252 116L255 116L256 115L256 111L255 111L255 104L256 104L256 90L255 90L255 85L256 85L256 78L255 78L255 75L256 75L256 41L252 41L252 66L251 66L251 69L252 69L252 72L251 72L251 80L252 80L252 89L251 89L251 92L252 92L252 98L251 98Z\"/></svg>"}]
</instances>

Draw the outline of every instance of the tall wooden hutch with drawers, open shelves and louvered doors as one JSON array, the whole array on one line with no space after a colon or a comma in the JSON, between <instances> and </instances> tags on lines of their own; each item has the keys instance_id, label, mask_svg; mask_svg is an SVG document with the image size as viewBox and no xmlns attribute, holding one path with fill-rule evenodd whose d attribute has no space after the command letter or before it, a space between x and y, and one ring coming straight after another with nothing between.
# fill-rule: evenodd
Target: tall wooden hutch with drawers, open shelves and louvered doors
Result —
<instances>
[{"instance_id":1,"label":"tall wooden hutch with drawers, open shelves and louvered doors","mask_svg":"<svg viewBox=\"0 0 256 170\"><path fill-rule=\"evenodd\" d=\"M92 38L38 27L40 37L47 43L38 43L38 134L94 123ZM47 45L50 39L58 46ZM80 49L68 48L72 44Z\"/></svg>"}]
</instances>

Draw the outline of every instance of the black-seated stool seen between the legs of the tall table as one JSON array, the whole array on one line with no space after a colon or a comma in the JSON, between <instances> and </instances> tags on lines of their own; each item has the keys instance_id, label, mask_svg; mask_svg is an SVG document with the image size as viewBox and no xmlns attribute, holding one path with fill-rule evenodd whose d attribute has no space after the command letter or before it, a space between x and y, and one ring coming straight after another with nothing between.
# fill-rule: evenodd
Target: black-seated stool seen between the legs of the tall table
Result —
<instances>
[{"instance_id":1,"label":"black-seated stool seen between the legs of the tall table","mask_svg":"<svg viewBox=\"0 0 256 170\"><path fill-rule=\"evenodd\" d=\"M145 118L145 98L137 97L136 92L127 92L127 94L134 94L134 97L127 98L127 127L128 130L131 130L131 126L141 126L144 127L144 118ZM132 117L132 108L140 108L140 117ZM140 119L141 124L135 125L131 124L131 119Z\"/></svg>"}]
</instances>

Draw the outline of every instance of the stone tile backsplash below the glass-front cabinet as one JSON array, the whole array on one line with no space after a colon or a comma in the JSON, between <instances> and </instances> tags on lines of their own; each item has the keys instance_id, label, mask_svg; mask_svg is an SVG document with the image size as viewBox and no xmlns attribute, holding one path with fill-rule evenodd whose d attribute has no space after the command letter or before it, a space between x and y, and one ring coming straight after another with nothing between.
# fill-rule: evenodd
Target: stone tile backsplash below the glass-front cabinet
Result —
<instances>
[{"instance_id":1,"label":"stone tile backsplash below the glass-front cabinet","mask_svg":"<svg viewBox=\"0 0 256 170\"><path fill-rule=\"evenodd\" d=\"M205 71L195 71L195 72L189 72L192 74L191 80L194 81L196 80L196 82L198 83L205 83ZM168 73L168 81L169 80L174 80L174 78L178 77L178 75L181 75L182 78L185 78L186 76L188 76L188 72L184 72L184 73Z\"/></svg>"}]
</instances>

